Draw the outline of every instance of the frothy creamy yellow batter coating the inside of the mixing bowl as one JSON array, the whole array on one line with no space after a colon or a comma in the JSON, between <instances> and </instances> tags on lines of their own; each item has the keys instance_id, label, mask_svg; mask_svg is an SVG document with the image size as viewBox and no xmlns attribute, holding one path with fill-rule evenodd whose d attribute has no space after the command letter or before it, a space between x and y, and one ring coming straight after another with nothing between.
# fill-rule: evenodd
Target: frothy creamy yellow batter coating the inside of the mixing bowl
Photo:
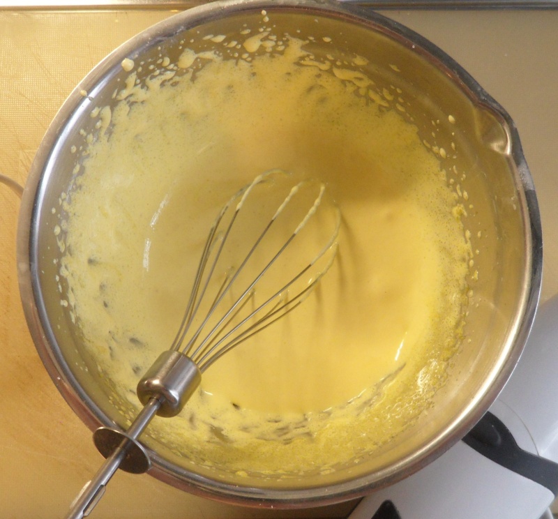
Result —
<instances>
[{"instance_id":1,"label":"frothy creamy yellow batter coating the inside of the mixing bowl","mask_svg":"<svg viewBox=\"0 0 558 519\"><path fill-rule=\"evenodd\" d=\"M439 158L365 60L340 67L301 40L243 37L245 59L185 48L145 83L126 61L121 102L92 114L98 137L65 204L64 300L120 405L137 406L220 206L273 168L321 179L342 225L319 289L207 370L151 434L233 472L327 469L428 407L458 347L469 243Z\"/></svg>"}]
</instances>

